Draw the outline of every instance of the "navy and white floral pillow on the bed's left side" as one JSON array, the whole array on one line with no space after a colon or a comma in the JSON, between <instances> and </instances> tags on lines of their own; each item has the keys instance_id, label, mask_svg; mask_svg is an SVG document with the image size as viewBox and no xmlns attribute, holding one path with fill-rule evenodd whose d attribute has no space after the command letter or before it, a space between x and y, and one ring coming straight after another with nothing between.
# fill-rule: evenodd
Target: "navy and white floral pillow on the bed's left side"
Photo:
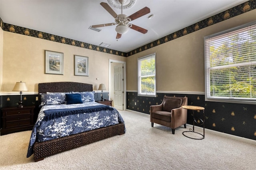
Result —
<instances>
[{"instance_id":1,"label":"navy and white floral pillow on the bed's left side","mask_svg":"<svg viewBox=\"0 0 256 170\"><path fill-rule=\"evenodd\" d=\"M65 93L49 93L49 94L40 94L40 95L41 95L40 107L44 105L52 105L52 104L65 104L66 102Z\"/></svg>"}]
</instances>

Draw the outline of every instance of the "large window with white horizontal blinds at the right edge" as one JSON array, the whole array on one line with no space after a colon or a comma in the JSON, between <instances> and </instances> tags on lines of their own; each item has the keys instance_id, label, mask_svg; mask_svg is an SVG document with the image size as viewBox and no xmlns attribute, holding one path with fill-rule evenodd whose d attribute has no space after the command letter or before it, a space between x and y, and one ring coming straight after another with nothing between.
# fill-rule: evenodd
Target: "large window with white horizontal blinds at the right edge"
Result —
<instances>
[{"instance_id":1,"label":"large window with white horizontal blinds at the right edge","mask_svg":"<svg viewBox=\"0 0 256 170\"><path fill-rule=\"evenodd\" d=\"M256 102L256 22L204 38L206 100Z\"/></svg>"}]
</instances>

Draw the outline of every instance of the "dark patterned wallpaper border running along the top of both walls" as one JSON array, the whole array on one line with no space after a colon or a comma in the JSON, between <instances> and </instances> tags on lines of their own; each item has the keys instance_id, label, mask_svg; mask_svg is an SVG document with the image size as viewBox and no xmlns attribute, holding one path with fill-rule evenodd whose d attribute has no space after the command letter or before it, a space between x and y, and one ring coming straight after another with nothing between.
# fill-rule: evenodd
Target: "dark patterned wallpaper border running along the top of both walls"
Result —
<instances>
[{"instance_id":1,"label":"dark patterned wallpaper border running along the top of both walls","mask_svg":"<svg viewBox=\"0 0 256 170\"><path fill-rule=\"evenodd\" d=\"M63 43L63 44L68 44L68 45L77 46L77 47L81 47L81 48L87 48L87 49L90 49L90 50L96 50L96 51L100 51L100 52L106 52L106 53L109 53L109 54L115 54L115 55L118 55L118 56L128 57L128 56L131 56L131 55L136 54L138 52L142 52L142 51L147 50L149 48L158 46L158 45L163 44L165 42L174 40L174 39L179 38L181 36L184 36L186 34L190 34L194 31L200 30L202 28L206 28L207 26L210 26L212 24L222 22L224 20L227 20L228 18L238 16L240 14L243 14L245 12L248 12L248 11L254 10L254 9L256 9L256 0L249 0L249 1L244 2L244 3L242 3L238 6L230 8L230 9L224 11L224 12L220 12L219 14L216 14L214 16L206 18L205 20L202 20L202 21L200 21L198 23L195 23L191 26L188 26L186 28L178 30L178 31L176 31L172 34L169 34L169 35L167 35L165 37L162 37L158 40L150 42L150 43L148 43L144 46L136 48L136 49L134 49L130 52L127 52L127 53L112 50L112 49L109 49L109 48L96 46L96 45L93 45L93 44L88 44L86 42L80 42L80 41L77 41L77 40L72 40L72 39L69 39L69 38L48 34L48 33L45 33L45 32L40 32L40 31L37 31L37 30L31 30L29 28L24 28L24 27L15 26L15 25L12 25L12 24L7 24L7 23L4 23L1 18L0 18L0 26L4 31L8 31L8 32L14 32L14 33L23 34L23 35L26 35L26 36L42 38L42 39L45 39L45 40L60 42L60 43Z\"/></svg>"}]
</instances>

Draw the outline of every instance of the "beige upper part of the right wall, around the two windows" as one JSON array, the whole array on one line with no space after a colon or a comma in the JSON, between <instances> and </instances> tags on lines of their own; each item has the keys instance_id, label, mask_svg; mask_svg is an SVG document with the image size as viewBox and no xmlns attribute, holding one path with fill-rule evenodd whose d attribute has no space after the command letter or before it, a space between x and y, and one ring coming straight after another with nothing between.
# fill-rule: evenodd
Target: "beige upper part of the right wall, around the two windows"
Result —
<instances>
[{"instance_id":1,"label":"beige upper part of the right wall, around the two windows","mask_svg":"<svg viewBox=\"0 0 256 170\"><path fill-rule=\"evenodd\" d=\"M256 10L127 58L127 90L137 90L137 58L156 52L156 90L204 92L204 36L256 20Z\"/></svg>"}]
</instances>

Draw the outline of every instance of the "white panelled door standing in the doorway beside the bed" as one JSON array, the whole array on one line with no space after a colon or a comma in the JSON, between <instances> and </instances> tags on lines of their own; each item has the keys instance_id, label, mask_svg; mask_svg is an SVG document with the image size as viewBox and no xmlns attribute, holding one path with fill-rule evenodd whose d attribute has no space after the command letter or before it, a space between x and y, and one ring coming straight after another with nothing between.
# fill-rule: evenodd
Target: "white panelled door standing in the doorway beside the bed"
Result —
<instances>
[{"instance_id":1,"label":"white panelled door standing in the doorway beside the bed","mask_svg":"<svg viewBox=\"0 0 256 170\"><path fill-rule=\"evenodd\" d=\"M123 64L114 67L114 108L124 110Z\"/></svg>"}]
</instances>

